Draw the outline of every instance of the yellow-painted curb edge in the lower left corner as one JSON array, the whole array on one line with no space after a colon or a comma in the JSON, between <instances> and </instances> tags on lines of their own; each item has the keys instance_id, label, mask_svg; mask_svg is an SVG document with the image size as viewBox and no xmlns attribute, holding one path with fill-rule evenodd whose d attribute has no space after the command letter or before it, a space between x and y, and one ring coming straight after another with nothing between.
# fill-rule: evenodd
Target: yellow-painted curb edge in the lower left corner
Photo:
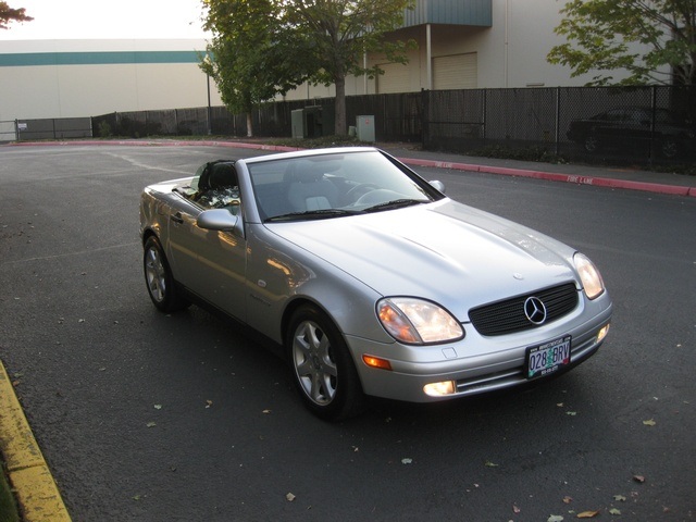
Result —
<instances>
[{"instance_id":1,"label":"yellow-painted curb edge in the lower left corner","mask_svg":"<svg viewBox=\"0 0 696 522\"><path fill-rule=\"evenodd\" d=\"M0 361L0 451L24 522L70 522L51 471Z\"/></svg>"}]
</instances>

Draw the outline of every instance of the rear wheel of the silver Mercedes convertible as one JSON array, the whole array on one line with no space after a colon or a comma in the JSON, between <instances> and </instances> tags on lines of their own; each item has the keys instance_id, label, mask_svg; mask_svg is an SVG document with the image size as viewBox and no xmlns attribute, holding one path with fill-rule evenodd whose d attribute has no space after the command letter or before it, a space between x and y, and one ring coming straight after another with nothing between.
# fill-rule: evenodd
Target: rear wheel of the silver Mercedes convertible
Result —
<instances>
[{"instance_id":1,"label":"rear wheel of the silver Mercedes convertible","mask_svg":"<svg viewBox=\"0 0 696 522\"><path fill-rule=\"evenodd\" d=\"M154 236L150 236L145 241L142 269L148 294L158 310L171 313L190 306L190 301L179 295L164 250Z\"/></svg>"}]
</instances>

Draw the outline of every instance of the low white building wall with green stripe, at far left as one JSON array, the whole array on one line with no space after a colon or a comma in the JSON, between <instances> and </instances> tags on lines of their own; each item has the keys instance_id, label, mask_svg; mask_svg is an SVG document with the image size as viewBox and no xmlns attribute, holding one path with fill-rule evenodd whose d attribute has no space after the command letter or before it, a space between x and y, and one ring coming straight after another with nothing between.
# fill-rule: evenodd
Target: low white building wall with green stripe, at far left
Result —
<instances>
[{"instance_id":1,"label":"low white building wall with green stripe, at far left","mask_svg":"<svg viewBox=\"0 0 696 522\"><path fill-rule=\"evenodd\" d=\"M204 40L0 41L0 121L206 107L204 49ZM214 82L211 104L222 104Z\"/></svg>"}]
</instances>

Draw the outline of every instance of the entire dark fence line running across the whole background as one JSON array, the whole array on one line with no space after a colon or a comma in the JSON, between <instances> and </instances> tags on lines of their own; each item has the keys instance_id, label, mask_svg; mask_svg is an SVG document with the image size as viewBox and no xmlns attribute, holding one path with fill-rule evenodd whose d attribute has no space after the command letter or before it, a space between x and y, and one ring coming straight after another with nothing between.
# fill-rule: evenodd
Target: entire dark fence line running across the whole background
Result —
<instances>
[{"instance_id":1,"label":"entire dark fence line running across the whole background","mask_svg":"<svg viewBox=\"0 0 696 522\"><path fill-rule=\"evenodd\" d=\"M312 109L312 135L334 134L334 99L265 103L256 136L289 137L293 112ZM348 125L373 115L377 141L426 150L601 163L684 163L696 156L696 89L558 87L433 90L346 99ZM14 123L11 129L7 124ZM0 122L0 140L80 137L246 136L224 107L114 112L91 119ZM490 154L488 154L490 156Z\"/></svg>"}]
</instances>

